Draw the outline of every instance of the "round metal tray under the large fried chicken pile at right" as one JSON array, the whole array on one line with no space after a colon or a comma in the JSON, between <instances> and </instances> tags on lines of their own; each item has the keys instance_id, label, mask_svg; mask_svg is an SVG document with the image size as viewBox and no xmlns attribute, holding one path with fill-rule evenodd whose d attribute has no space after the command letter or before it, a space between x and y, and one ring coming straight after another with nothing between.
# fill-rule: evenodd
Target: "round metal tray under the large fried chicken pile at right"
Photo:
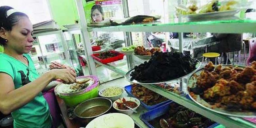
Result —
<instances>
[{"instance_id":1,"label":"round metal tray under the large fried chicken pile at right","mask_svg":"<svg viewBox=\"0 0 256 128\"><path fill-rule=\"evenodd\" d=\"M222 65L222 67L227 67L227 66L235 66L235 67L240 67L240 68L245 68L244 66L236 66L236 65ZM194 74L196 75L200 75L200 73L203 71L203 68L201 68L200 70L196 71ZM197 78L195 78L193 75L191 75L187 81L187 87L193 88L195 87ZM195 95L197 96L197 99L194 99L192 96L190 96L190 94L188 94L189 97L196 102L198 105L202 106L205 109L208 109L210 111L219 113L219 114L223 114L223 115L227 115L227 116L232 116L232 117L256 117L256 112L234 112L234 111L227 111L224 110L222 108L214 108L212 109L212 105L209 104L208 102L206 102L203 98L201 98L199 95Z\"/></svg>"}]
</instances>

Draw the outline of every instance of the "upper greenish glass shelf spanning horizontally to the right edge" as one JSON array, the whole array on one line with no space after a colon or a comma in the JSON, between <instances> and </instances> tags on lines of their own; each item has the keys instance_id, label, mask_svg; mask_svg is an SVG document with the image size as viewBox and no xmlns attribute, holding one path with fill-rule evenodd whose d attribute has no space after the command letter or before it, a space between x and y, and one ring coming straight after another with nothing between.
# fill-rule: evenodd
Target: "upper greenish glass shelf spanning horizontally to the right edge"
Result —
<instances>
[{"instance_id":1,"label":"upper greenish glass shelf spanning horizontally to the right edge","mask_svg":"<svg viewBox=\"0 0 256 128\"><path fill-rule=\"evenodd\" d=\"M239 28L243 29L237 29ZM219 20L167 24L135 24L98 28L87 28L89 32L255 32L256 20Z\"/></svg>"}]
</instances>

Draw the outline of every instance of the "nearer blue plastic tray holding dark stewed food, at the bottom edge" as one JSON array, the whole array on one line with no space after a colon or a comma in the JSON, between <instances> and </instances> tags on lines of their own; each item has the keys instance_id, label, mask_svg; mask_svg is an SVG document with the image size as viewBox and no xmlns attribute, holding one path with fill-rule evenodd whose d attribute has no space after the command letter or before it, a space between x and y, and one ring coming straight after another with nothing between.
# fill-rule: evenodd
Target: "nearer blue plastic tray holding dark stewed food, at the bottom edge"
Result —
<instances>
[{"instance_id":1,"label":"nearer blue plastic tray holding dark stewed food, at the bottom edge","mask_svg":"<svg viewBox=\"0 0 256 128\"><path fill-rule=\"evenodd\" d=\"M150 128L154 128L149 122L154 120L155 118L157 117L160 117L166 113L168 113L169 109L170 109L170 104L172 103L175 103L175 102L169 102L169 103L166 103L160 107L157 107L153 110L150 110L146 113L143 113L139 116L139 118L146 124L148 125L148 127ZM218 123L214 123L212 124L211 126L209 126L208 128L214 128L216 126L218 126L219 124Z\"/></svg>"}]
</instances>

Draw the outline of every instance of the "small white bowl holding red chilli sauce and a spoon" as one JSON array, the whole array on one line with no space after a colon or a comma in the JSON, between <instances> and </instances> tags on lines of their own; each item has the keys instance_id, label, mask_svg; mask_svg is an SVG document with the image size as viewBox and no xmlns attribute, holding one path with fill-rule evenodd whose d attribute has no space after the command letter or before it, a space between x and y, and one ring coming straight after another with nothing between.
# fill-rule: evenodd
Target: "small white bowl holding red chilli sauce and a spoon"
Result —
<instances>
[{"instance_id":1,"label":"small white bowl holding red chilli sauce and a spoon","mask_svg":"<svg viewBox=\"0 0 256 128\"><path fill-rule=\"evenodd\" d=\"M138 107L139 107L139 105L140 105L140 101L139 101L139 99L137 99L137 98L134 98L134 97L123 97L126 101L133 101L133 102L135 102L138 106L137 107L135 107L134 108L134 110L136 110ZM130 110L130 109L128 109L128 110L121 110L121 109L118 109L117 108L117 102L118 103L122 103L123 101L122 101L122 99L123 98L119 98L119 99L117 99L114 103L113 103L113 108L115 108L116 110L117 110L117 112L119 112L119 113L124 113L124 114L126 114L126 115L132 115L133 114L133 111L132 110Z\"/></svg>"}]
</instances>

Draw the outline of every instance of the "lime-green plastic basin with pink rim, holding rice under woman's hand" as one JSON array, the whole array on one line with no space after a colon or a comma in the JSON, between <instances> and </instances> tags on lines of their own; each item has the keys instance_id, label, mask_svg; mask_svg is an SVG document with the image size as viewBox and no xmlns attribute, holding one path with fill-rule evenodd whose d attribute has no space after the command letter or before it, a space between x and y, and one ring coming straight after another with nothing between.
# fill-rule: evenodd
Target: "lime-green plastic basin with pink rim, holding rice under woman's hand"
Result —
<instances>
[{"instance_id":1,"label":"lime-green plastic basin with pink rim, holding rice under woman's hand","mask_svg":"<svg viewBox=\"0 0 256 128\"><path fill-rule=\"evenodd\" d=\"M93 85L91 85L90 87L87 87L86 89L83 89L75 94L62 94L62 93L58 93L56 90L58 88L58 86L55 87L55 94L58 95L61 99L63 99L63 101L65 102L65 104L69 107L74 107L77 104L87 100L87 99L91 99L91 98L95 98L98 97L98 87L99 87L99 80L96 76L93 75L89 75L89 76L79 76L77 78L92 78L95 80L95 83Z\"/></svg>"}]
</instances>

